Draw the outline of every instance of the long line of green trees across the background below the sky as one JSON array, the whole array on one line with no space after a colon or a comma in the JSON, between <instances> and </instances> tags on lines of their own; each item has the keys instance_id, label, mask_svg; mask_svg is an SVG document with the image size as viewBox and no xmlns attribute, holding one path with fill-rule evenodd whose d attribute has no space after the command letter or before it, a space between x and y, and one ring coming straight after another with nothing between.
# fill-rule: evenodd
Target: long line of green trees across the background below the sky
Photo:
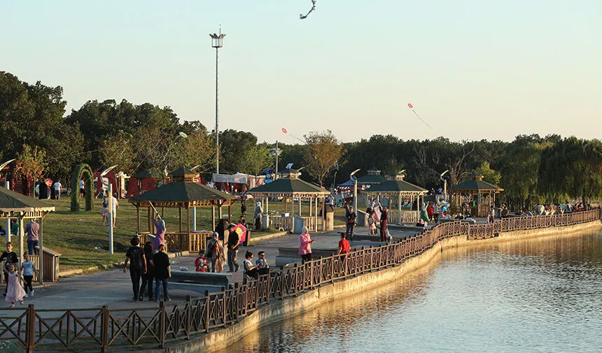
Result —
<instances>
[{"instance_id":1,"label":"long line of green trees across the background below the sky","mask_svg":"<svg viewBox=\"0 0 602 353\"><path fill-rule=\"evenodd\" d=\"M165 173L197 166L205 180L215 168L215 131L199 121L181 121L169 107L151 103L90 100L66 114L60 86L31 85L0 71L0 157L17 158L18 177L50 175L66 180L74 165L118 165L132 174L142 169ZM183 132L183 134L179 134ZM184 137L186 136L186 137ZM302 178L330 188L349 173L370 168L426 189L448 186L471 173L505 189L512 208L602 196L602 143L574 136L520 135L514 141L403 140L374 135L342 143L332 131L311 131L305 144L279 143L279 168L293 163ZM274 141L275 143L275 141ZM274 143L259 143L248 131L220 132L221 173L260 175L274 168ZM3 175L4 176L4 175Z\"/></svg>"}]
</instances>

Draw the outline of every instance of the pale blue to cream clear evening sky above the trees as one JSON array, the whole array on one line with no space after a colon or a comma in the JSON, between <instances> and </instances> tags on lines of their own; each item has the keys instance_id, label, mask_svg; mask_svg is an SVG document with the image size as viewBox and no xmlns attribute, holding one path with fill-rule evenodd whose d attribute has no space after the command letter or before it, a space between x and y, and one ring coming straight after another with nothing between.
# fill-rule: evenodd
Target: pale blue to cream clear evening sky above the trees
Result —
<instances>
[{"instance_id":1,"label":"pale blue to cream clear evening sky above the trees","mask_svg":"<svg viewBox=\"0 0 602 353\"><path fill-rule=\"evenodd\" d=\"M0 71L297 143L602 138L599 0L0 0ZM421 122L414 110L430 125ZM283 134L281 128L288 134Z\"/></svg>"}]
</instances>

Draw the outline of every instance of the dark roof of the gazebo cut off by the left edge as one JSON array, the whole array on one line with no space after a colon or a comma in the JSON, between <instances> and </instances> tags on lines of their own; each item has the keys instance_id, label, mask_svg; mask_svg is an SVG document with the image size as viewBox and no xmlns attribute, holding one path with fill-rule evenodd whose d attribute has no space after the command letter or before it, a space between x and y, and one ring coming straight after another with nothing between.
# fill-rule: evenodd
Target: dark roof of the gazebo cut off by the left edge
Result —
<instances>
[{"instance_id":1,"label":"dark roof of the gazebo cut off by the left edge","mask_svg":"<svg viewBox=\"0 0 602 353\"><path fill-rule=\"evenodd\" d=\"M41 217L41 212L54 210L55 206L48 203L0 187L0 217L36 218Z\"/></svg>"}]
</instances>

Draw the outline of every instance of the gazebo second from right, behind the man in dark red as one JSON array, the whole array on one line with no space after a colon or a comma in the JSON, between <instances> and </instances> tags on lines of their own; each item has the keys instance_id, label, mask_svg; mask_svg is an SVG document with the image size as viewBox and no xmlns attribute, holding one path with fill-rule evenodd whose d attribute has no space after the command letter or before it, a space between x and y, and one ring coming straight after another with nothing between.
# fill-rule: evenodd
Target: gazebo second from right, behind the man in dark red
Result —
<instances>
[{"instance_id":1,"label":"gazebo second from right, behind the man in dark red","mask_svg":"<svg viewBox=\"0 0 602 353\"><path fill-rule=\"evenodd\" d=\"M388 197L389 199L389 212L388 219L390 222L398 223L416 223L420 217L418 210L413 211L402 211L401 205L404 198L409 198L410 204L414 203L414 199L419 200L421 203L424 202L424 194L428 190L418 187L412 183L403 180L403 174L397 174L391 177L390 180L381 182L380 184L374 185L369 189L364 190L364 194L367 197ZM391 201L397 199L398 210L391 209Z\"/></svg>"}]
</instances>

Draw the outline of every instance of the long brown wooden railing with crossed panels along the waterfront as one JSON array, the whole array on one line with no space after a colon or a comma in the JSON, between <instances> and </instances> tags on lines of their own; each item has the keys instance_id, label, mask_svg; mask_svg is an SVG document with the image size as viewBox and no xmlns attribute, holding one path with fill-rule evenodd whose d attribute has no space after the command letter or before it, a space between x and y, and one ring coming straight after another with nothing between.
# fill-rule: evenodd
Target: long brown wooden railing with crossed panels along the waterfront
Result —
<instances>
[{"instance_id":1,"label":"long brown wooden railing with crossed panels along the waterfront","mask_svg":"<svg viewBox=\"0 0 602 353\"><path fill-rule=\"evenodd\" d=\"M214 293L206 291L198 298L187 297L183 303L169 306L160 303L159 308L36 310L29 305L25 310L2 309L0 340L13 340L27 352L165 347L169 342L236 324L274 298L298 296L337 280L398 266L445 238L484 239L507 231L570 226L598 219L600 210L509 218L492 224L446 222L398 243L305 261L261 275L258 280L236 283Z\"/></svg>"}]
</instances>

